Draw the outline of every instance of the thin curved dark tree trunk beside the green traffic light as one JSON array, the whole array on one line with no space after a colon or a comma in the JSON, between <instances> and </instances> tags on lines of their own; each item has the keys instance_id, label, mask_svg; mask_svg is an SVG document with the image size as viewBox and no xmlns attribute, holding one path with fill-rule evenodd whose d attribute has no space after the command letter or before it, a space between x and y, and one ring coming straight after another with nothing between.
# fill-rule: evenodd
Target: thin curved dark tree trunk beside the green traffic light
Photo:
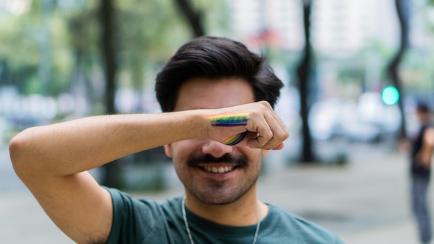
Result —
<instances>
[{"instance_id":1,"label":"thin curved dark tree trunk beside the green traffic light","mask_svg":"<svg viewBox=\"0 0 434 244\"><path fill-rule=\"evenodd\" d=\"M390 61L389 67L388 67L388 73L390 76L390 80L394 87L397 88L399 92L399 100L398 100L398 107L399 111L401 112L401 128L399 130L398 139L404 139L406 138L407 132L406 132L406 117L405 113L403 111L403 91L401 86L401 79L399 78L398 73L398 67L402 60L403 53L406 51L406 48L408 46L408 1L407 0L395 0L395 7L397 11L397 17L399 19L399 28L401 30L400 35L400 44L399 49L397 53L395 53L394 57Z\"/></svg>"}]
</instances>

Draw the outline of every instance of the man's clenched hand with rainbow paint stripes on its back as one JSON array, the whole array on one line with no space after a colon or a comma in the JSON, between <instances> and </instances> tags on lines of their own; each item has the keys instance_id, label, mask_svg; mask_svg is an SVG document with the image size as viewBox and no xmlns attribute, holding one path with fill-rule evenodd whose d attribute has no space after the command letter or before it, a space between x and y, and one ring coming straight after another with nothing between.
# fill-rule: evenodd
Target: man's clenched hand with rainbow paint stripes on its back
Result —
<instances>
[{"instance_id":1,"label":"man's clenched hand with rainbow paint stripes on its back","mask_svg":"<svg viewBox=\"0 0 434 244\"><path fill-rule=\"evenodd\" d=\"M209 139L227 145L279 150L288 138L288 129L265 101L209 110L203 116Z\"/></svg>"}]
</instances>

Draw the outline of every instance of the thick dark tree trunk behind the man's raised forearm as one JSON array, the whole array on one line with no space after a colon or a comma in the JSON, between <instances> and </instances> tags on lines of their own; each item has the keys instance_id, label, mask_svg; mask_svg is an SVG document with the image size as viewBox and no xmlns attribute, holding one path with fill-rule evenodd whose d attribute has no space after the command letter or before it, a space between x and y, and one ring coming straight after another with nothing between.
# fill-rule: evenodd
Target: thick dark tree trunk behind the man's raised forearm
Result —
<instances>
[{"instance_id":1,"label":"thick dark tree trunk behind the man's raised forearm","mask_svg":"<svg viewBox=\"0 0 434 244\"><path fill-rule=\"evenodd\" d=\"M114 39L114 0L101 0L101 53L103 56L103 68L105 73L105 108L107 114L116 114L114 107L114 94L116 92L116 46ZM103 166L105 172L101 184L109 187L119 185L119 167L117 162L111 162Z\"/></svg>"}]
</instances>

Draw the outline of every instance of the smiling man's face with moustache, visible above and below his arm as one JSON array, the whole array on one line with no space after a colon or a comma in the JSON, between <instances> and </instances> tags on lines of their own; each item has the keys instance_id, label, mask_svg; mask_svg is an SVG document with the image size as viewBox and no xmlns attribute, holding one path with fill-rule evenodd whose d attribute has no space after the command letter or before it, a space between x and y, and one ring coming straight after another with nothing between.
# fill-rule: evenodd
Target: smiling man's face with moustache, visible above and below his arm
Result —
<instances>
[{"instance_id":1,"label":"smiling man's face with moustache, visible above and below his arm","mask_svg":"<svg viewBox=\"0 0 434 244\"><path fill-rule=\"evenodd\" d=\"M253 103L248 82L239 78L194 78L180 87L175 111ZM188 139L165 146L186 191L206 204L229 204L256 191L267 150L227 146L211 139ZM223 173L214 173L224 171Z\"/></svg>"}]
</instances>

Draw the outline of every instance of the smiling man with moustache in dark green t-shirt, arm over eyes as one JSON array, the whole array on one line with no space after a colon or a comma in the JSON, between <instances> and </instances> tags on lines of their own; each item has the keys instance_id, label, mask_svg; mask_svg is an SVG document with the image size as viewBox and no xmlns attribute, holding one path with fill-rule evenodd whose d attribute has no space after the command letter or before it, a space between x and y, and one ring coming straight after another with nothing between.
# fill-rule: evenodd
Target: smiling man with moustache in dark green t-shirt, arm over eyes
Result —
<instances>
[{"instance_id":1,"label":"smiling man with moustache in dark green t-shirt, arm over eyes","mask_svg":"<svg viewBox=\"0 0 434 244\"><path fill-rule=\"evenodd\" d=\"M282 86L243 44L200 37L157 76L164 113L29 128L10 142L12 164L77 243L342 243L257 200L262 158L288 137L272 110ZM161 204L134 200L86 172L162 145L184 184L183 197Z\"/></svg>"}]
</instances>

